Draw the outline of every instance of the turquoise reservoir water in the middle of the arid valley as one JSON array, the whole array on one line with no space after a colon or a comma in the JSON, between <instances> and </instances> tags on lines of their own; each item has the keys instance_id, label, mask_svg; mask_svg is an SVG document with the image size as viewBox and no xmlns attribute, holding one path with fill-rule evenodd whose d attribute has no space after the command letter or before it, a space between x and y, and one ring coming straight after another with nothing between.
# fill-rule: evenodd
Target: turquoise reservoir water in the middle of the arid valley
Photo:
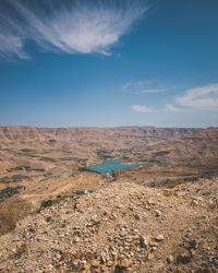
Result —
<instances>
[{"instance_id":1,"label":"turquoise reservoir water in the middle of the arid valley","mask_svg":"<svg viewBox=\"0 0 218 273\"><path fill-rule=\"evenodd\" d=\"M146 166L148 164L131 164L131 165L124 165L120 159L111 159L111 161L105 161L101 164L97 164L90 167L86 167L87 170L93 170L101 174L107 174L111 173L113 170L119 170L119 169L131 169L135 168L138 166Z\"/></svg>"}]
</instances>

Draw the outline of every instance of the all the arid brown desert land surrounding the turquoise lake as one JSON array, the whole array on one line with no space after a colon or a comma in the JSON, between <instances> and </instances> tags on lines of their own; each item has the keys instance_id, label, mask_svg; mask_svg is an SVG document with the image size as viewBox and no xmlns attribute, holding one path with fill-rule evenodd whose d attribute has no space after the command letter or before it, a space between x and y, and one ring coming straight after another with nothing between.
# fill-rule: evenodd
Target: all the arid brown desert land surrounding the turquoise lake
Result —
<instances>
[{"instance_id":1,"label":"all the arid brown desert land surrounding the turquoise lake","mask_svg":"<svg viewBox=\"0 0 218 273\"><path fill-rule=\"evenodd\" d=\"M2 272L218 270L218 128L1 127L0 154ZM116 158L142 165L86 170Z\"/></svg>"}]
</instances>

